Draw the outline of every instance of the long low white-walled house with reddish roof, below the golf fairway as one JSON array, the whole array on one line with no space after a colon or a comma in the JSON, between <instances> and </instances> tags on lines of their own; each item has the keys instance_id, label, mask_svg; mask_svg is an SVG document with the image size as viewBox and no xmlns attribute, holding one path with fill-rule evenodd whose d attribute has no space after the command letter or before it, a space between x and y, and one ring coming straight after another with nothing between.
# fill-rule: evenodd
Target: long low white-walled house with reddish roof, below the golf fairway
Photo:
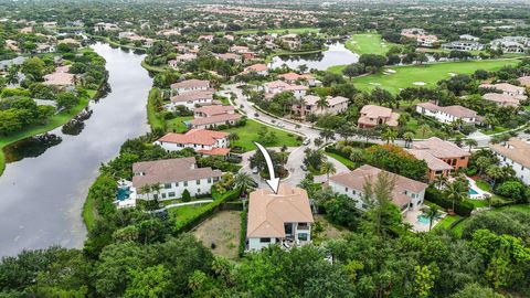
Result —
<instances>
[{"instance_id":1,"label":"long low white-walled house with reddish roof, below the golf fairway","mask_svg":"<svg viewBox=\"0 0 530 298\"><path fill-rule=\"evenodd\" d=\"M475 110L458 105L441 107L430 102L420 103L416 111L443 124L452 124L458 119L464 124L480 124L480 117Z\"/></svg>"}]
</instances>

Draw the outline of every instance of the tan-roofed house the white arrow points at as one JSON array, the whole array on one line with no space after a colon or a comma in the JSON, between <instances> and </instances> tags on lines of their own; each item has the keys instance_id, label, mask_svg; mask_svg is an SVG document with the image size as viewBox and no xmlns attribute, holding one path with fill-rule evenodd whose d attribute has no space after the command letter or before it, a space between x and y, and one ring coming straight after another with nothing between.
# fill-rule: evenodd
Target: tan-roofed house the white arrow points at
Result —
<instances>
[{"instance_id":1,"label":"tan-roofed house the white arrow points at","mask_svg":"<svg viewBox=\"0 0 530 298\"><path fill-rule=\"evenodd\" d=\"M315 222L306 190L282 183L278 193L258 189L250 194L246 224L248 251L271 244L283 248L311 242Z\"/></svg>"}]
</instances>

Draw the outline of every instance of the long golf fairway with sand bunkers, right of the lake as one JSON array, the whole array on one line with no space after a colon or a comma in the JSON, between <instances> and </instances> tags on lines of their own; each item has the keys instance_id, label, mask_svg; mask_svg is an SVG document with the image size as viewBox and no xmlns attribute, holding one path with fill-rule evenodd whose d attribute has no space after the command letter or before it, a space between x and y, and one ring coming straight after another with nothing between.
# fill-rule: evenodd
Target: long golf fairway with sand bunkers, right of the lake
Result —
<instances>
[{"instance_id":1,"label":"long golf fairway with sand bunkers, right of the lake","mask_svg":"<svg viewBox=\"0 0 530 298\"><path fill-rule=\"evenodd\" d=\"M390 66L385 70L395 71L395 73L383 72L360 76L352 79L353 85L361 91L371 91L375 87L388 89L393 94L398 94L401 88L420 86L413 83L424 83L424 87L435 87L441 79L451 77L451 73L471 74L476 70L498 71L505 65L516 65L518 60L483 60L466 62L444 62L425 65L404 65ZM341 73L346 65L332 66L328 71Z\"/></svg>"}]
</instances>

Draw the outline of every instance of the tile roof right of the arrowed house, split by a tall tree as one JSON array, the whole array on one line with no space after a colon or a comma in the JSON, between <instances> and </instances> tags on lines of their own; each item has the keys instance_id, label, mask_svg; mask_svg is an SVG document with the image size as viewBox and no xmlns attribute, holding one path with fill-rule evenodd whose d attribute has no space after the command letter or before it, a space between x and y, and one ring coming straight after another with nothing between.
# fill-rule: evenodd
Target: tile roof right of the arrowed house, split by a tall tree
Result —
<instances>
[{"instance_id":1,"label":"tile roof right of the arrowed house, split by a tall tree","mask_svg":"<svg viewBox=\"0 0 530 298\"><path fill-rule=\"evenodd\" d=\"M333 181L338 184L344 185L350 189L354 189L358 191L363 191L364 184L367 181L375 182L378 179L379 173L386 172L379 168L372 167L370 164L363 164L351 172L343 172L329 178L330 181ZM395 185L392 190L393 199L392 202L398 205L403 205L401 203L402 196L405 191L410 191L413 193L421 193L427 188L427 184L412 180L410 178L391 173L395 177ZM410 201L410 199L407 199Z\"/></svg>"}]
</instances>

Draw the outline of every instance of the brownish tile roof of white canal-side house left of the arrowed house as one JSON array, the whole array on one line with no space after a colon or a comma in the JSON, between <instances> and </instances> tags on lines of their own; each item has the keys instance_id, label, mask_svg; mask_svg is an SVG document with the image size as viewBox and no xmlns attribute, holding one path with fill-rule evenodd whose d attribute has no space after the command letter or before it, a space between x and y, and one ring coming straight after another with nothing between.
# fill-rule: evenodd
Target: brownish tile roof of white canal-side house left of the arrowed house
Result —
<instances>
[{"instance_id":1,"label":"brownish tile roof of white canal-side house left of the arrowed house","mask_svg":"<svg viewBox=\"0 0 530 298\"><path fill-rule=\"evenodd\" d=\"M223 174L220 170L212 170L212 168L197 168L195 158L192 157L135 162L132 172L144 173L132 177L132 185L137 189L146 184L192 181Z\"/></svg>"}]
</instances>

